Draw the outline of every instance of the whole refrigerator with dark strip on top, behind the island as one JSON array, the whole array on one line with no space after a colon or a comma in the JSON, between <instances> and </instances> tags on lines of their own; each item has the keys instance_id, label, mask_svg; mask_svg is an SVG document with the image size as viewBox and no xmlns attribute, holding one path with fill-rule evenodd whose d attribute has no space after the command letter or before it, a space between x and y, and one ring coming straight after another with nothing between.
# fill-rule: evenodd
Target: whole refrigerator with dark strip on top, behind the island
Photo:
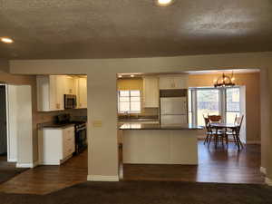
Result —
<instances>
[{"instance_id":1,"label":"whole refrigerator with dark strip on top, behind the island","mask_svg":"<svg viewBox=\"0 0 272 204\"><path fill-rule=\"evenodd\" d=\"M188 90L160 90L160 124L188 123Z\"/></svg>"}]
</instances>

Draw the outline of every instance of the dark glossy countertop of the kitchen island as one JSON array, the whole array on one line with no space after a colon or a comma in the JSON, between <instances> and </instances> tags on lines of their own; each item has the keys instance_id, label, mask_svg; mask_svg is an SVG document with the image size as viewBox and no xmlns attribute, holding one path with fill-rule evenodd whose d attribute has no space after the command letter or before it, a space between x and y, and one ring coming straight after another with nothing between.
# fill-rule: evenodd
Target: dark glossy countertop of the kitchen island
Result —
<instances>
[{"instance_id":1,"label":"dark glossy countertop of the kitchen island","mask_svg":"<svg viewBox=\"0 0 272 204\"><path fill-rule=\"evenodd\" d=\"M203 130L203 127L189 125L189 124L182 124L182 125L160 125L160 124L144 124L144 123L125 123L121 125L119 130L192 130L198 131Z\"/></svg>"}]
</instances>

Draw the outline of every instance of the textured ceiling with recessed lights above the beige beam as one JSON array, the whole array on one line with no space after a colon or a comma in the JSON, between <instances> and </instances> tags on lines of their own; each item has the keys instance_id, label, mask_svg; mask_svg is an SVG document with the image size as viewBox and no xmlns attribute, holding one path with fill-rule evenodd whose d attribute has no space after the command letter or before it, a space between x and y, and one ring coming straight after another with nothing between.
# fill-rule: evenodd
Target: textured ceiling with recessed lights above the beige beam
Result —
<instances>
[{"instance_id":1,"label":"textured ceiling with recessed lights above the beige beam","mask_svg":"<svg viewBox=\"0 0 272 204\"><path fill-rule=\"evenodd\" d=\"M271 0L0 0L0 58L272 51Z\"/></svg>"}]
</instances>

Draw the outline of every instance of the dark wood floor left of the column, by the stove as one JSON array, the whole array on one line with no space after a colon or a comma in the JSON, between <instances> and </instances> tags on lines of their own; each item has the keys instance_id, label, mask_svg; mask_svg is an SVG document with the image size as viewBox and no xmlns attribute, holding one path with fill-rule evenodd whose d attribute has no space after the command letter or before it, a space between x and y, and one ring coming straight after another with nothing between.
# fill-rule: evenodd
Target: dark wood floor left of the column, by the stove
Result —
<instances>
[{"instance_id":1,"label":"dark wood floor left of the column, by the stove","mask_svg":"<svg viewBox=\"0 0 272 204\"><path fill-rule=\"evenodd\" d=\"M87 180L88 152L71 158L61 166L39 166L26 170L0 185L6 193L47 194Z\"/></svg>"}]
</instances>

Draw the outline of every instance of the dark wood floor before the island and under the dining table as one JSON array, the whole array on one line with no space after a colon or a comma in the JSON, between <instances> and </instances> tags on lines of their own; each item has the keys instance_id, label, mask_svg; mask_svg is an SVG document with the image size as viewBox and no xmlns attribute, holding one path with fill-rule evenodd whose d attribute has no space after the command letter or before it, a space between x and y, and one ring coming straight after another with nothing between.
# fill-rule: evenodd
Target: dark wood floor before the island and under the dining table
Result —
<instances>
[{"instance_id":1,"label":"dark wood floor before the island and under the dining table","mask_svg":"<svg viewBox=\"0 0 272 204\"><path fill-rule=\"evenodd\" d=\"M192 182L264 183L259 171L260 146L242 151L230 143L227 148L208 148L199 141L199 165L124 164L123 180L175 180Z\"/></svg>"}]
</instances>

